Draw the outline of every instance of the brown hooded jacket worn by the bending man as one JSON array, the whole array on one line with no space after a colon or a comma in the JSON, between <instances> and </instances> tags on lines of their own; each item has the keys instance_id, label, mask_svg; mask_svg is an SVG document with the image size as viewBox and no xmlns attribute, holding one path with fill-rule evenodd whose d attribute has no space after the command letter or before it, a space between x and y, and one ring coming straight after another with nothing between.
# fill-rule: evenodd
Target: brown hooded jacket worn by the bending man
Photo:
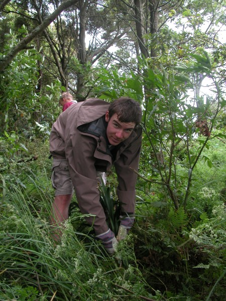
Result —
<instances>
[{"instance_id":1,"label":"brown hooded jacket worn by the bending man","mask_svg":"<svg viewBox=\"0 0 226 301\"><path fill-rule=\"evenodd\" d=\"M50 153L54 158L67 159L79 208L83 214L95 215L93 227L96 235L108 229L99 202L96 170L108 171L112 164L115 165L121 211L134 213L137 176L130 167L138 170L141 152L140 127L136 127L129 138L119 145L115 161L109 152L103 125L100 130L94 128L93 131L90 127L84 127L104 116L109 105L98 98L74 104L60 114L50 134ZM101 123L101 118L99 120ZM87 218L87 221L92 224L93 217Z\"/></svg>"}]
</instances>

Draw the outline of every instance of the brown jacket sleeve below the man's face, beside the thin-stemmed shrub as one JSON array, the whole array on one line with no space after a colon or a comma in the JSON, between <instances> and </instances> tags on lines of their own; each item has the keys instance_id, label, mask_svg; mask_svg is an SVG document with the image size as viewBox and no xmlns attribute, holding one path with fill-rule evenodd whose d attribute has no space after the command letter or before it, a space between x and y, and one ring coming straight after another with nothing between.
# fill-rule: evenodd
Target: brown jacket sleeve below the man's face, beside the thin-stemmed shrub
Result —
<instances>
[{"instance_id":1,"label":"brown jacket sleeve below the man's face, beside the thin-stemmed shrub","mask_svg":"<svg viewBox=\"0 0 226 301\"><path fill-rule=\"evenodd\" d=\"M121 204L121 211L134 213L136 198L137 175L130 169L138 171L142 142L142 128L138 128L137 136L122 152L114 163L118 176L117 195Z\"/></svg>"}]
</instances>

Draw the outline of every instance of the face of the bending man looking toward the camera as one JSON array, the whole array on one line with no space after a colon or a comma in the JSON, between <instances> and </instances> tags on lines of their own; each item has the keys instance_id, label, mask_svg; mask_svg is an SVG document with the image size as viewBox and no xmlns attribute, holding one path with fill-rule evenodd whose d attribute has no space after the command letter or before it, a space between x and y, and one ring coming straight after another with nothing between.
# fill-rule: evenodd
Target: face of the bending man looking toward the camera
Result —
<instances>
[{"instance_id":1,"label":"face of the bending man looking toward the camera","mask_svg":"<svg viewBox=\"0 0 226 301\"><path fill-rule=\"evenodd\" d=\"M105 114L105 121L108 122L106 135L111 145L118 145L131 135L136 126L135 122L121 122L115 113L109 118L109 112Z\"/></svg>"}]
</instances>

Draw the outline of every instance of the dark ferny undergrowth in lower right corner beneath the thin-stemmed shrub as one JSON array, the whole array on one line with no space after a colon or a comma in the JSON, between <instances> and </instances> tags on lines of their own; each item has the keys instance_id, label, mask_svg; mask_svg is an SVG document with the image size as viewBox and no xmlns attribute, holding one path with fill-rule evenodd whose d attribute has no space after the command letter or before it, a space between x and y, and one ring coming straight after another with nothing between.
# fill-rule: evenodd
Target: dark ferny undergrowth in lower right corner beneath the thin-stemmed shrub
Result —
<instances>
[{"instance_id":1,"label":"dark ferny undergrowth in lower right corner beneath the thin-stemmed shrub","mask_svg":"<svg viewBox=\"0 0 226 301\"><path fill-rule=\"evenodd\" d=\"M196 225L184 216L181 207L178 210L182 211L181 222L177 222L173 208L170 208L168 221L160 209L147 208L137 218L134 231L135 245L139 247L135 253L153 289L161 291L166 285L169 299L187 295L194 300L204 300L213 288L211 298L223 300L224 205L213 208L211 219L201 214Z\"/></svg>"}]
</instances>

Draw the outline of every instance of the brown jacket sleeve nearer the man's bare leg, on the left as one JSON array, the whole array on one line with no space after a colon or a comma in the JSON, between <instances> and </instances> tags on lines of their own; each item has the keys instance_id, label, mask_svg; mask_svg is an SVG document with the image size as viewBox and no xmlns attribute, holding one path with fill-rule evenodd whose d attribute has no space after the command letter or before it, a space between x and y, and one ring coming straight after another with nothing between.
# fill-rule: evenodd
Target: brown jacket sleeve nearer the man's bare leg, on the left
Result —
<instances>
[{"instance_id":1,"label":"brown jacket sleeve nearer the man's bare leg, on the left","mask_svg":"<svg viewBox=\"0 0 226 301\"><path fill-rule=\"evenodd\" d=\"M86 221L93 225L96 235L108 230L105 214L99 202L95 158L96 140L77 131L70 135L65 153L76 198L82 214L92 214Z\"/></svg>"}]
</instances>

